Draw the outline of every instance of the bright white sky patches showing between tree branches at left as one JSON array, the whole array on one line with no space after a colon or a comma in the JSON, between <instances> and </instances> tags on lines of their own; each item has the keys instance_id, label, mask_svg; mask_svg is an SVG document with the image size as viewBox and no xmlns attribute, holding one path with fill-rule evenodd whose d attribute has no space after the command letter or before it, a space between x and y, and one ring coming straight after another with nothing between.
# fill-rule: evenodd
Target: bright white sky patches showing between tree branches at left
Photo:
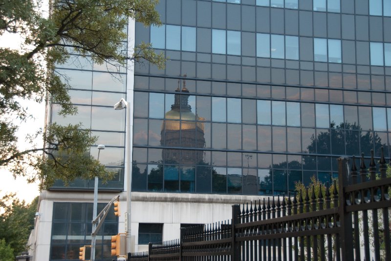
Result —
<instances>
[{"instance_id":1,"label":"bright white sky patches showing between tree branches at left","mask_svg":"<svg viewBox=\"0 0 391 261\"><path fill-rule=\"evenodd\" d=\"M21 40L18 36L4 34L0 37L0 47L9 47L17 49L21 45ZM31 100L22 100L22 106L28 107L28 112L34 116L35 119L29 119L26 122L15 120L19 125L18 146L26 148L25 137L27 133L34 133L43 127L44 124L44 104L39 104ZM42 144L42 141L37 141ZM38 184L28 184L23 177L14 179L12 174L4 168L0 168L0 197L6 193L17 193L17 197L26 202L31 202L39 195Z\"/></svg>"}]
</instances>

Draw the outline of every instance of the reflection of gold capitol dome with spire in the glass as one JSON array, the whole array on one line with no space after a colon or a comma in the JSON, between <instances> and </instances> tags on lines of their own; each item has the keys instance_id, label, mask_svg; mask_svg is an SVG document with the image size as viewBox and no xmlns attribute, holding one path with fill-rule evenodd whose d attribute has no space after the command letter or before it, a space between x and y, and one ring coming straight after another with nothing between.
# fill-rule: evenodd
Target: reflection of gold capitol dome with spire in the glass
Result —
<instances>
[{"instance_id":1,"label":"reflection of gold capitol dome with spire in the glass","mask_svg":"<svg viewBox=\"0 0 391 261\"><path fill-rule=\"evenodd\" d=\"M186 77L184 75L183 77ZM174 104L171 110L165 114L165 120L161 126L161 144L168 147L204 148L204 123L205 120L192 112L189 105L189 90L186 88L186 79L178 80L175 90ZM164 143L164 144L163 144ZM165 150L163 158L166 163L176 163L179 160L179 153L182 151L182 164L194 164L203 158L203 151L193 150ZM196 153L196 155L194 155Z\"/></svg>"}]
</instances>

